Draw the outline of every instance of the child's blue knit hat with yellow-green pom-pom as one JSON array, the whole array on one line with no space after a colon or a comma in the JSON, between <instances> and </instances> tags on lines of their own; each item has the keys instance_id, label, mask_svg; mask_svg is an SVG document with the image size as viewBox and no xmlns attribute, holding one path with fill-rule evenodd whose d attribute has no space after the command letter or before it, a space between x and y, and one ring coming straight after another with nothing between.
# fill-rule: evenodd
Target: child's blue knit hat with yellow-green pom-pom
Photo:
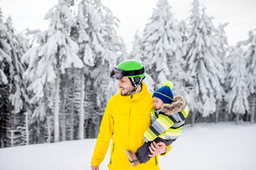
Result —
<instances>
[{"instance_id":1,"label":"child's blue knit hat with yellow-green pom-pom","mask_svg":"<svg viewBox=\"0 0 256 170\"><path fill-rule=\"evenodd\" d=\"M163 86L156 90L152 97L160 98L164 103L172 103L174 100L174 94L171 89L174 84L171 81L165 81Z\"/></svg>"}]
</instances>

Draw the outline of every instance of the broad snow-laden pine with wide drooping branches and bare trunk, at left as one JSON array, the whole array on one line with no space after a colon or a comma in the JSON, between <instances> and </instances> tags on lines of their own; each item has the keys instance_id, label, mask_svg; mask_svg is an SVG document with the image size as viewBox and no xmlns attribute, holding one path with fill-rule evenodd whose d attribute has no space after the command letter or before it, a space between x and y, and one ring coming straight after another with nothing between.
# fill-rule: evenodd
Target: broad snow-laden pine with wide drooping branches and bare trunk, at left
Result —
<instances>
[{"instance_id":1,"label":"broad snow-laden pine with wide drooping branches and bare trunk, at left","mask_svg":"<svg viewBox=\"0 0 256 170\"><path fill-rule=\"evenodd\" d=\"M45 19L50 19L50 28L44 33L45 42L32 47L23 61L28 63L26 78L31 83L28 90L35 94L30 102L37 103L33 111L33 118L46 119L48 98L46 88L54 88L54 141L60 140L60 82L61 75L70 67L82 68L83 64L78 57L78 45L70 38L71 26L75 20L70 13L70 1L60 0L57 5L48 11Z\"/></svg>"}]
</instances>

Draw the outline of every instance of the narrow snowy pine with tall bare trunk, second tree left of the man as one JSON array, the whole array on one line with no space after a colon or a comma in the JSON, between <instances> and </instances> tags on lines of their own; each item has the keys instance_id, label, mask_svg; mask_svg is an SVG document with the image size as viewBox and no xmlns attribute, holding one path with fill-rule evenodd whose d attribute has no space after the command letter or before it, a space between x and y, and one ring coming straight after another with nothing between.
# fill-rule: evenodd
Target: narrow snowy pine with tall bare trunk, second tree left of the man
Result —
<instances>
[{"instance_id":1,"label":"narrow snowy pine with tall bare trunk, second tree left of the man","mask_svg":"<svg viewBox=\"0 0 256 170\"><path fill-rule=\"evenodd\" d=\"M90 23L90 17L94 17L95 23L97 23L97 26L94 27L93 24ZM82 68L80 70L80 79L77 79L78 84L80 84L80 100L79 100L79 127L78 127L78 138L83 139L85 135L85 118L88 118L89 116L85 117L85 77L89 77L88 72L85 72L86 70L89 70L89 67L93 67L95 65L95 55L99 54L99 52L102 50L102 47L97 47L97 53L93 52L95 49L94 46L92 46L92 38L91 35L94 34L95 39L97 38L97 35L99 34L99 14L97 11L95 11L95 8L90 4L90 1L81 1L78 5L78 16L77 16L77 22L78 22L78 28L77 33L75 36L77 36L76 40L78 42L79 46L79 53L78 56L80 59L84 62L85 67L87 69ZM95 28L95 29L94 29ZM96 33L95 33L96 32ZM97 41L97 39L95 40ZM98 44L98 43L97 43ZM100 46L100 45L99 45ZM89 80L90 81L90 80Z\"/></svg>"}]
</instances>

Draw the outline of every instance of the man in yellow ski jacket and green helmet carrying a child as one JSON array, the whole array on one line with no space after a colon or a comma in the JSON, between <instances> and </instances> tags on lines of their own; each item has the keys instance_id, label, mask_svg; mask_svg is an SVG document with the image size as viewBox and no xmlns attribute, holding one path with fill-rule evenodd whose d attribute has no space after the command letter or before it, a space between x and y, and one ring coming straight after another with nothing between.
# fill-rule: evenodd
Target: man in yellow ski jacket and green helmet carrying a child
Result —
<instances>
[{"instance_id":1,"label":"man in yellow ski jacket and green helmet carrying a child","mask_svg":"<svg viewBox=\"0 0 256 170\"><path fill-rule=\"evenodd\" d=\"M112 140L110 170L129 170L132 165L125 154L126 149L137 151L143 143L144 132L150 125L150 110L154 106L152 94L142 81L144 67L135 60L126 60L112 69L112 78L119 81L119 94L110 98L100 125L100 133L92 156L91 169L99 170L100 163ZM153 142L149 148L152 159L134 169L159 169L158 154L166 154L171 147L164 142Z\"/></svg>"}]
</instances>

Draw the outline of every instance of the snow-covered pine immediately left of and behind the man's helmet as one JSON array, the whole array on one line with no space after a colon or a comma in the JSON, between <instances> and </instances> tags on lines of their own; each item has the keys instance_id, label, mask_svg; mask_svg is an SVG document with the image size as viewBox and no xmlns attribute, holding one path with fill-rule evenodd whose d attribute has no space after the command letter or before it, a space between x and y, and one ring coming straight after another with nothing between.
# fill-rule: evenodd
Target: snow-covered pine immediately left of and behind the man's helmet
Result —
<instances>
[{"instance_id":1,"label":"snow-covered pine immediately left of and behind the man's helmet","mask_svg":"<svg viewBox=\"0 0 256 170\"><path fill-rule=\"evenodd\" d=\"M98 1L99 4L100 0ZM117 65L119 58L127 59L127 49L124 41L117 34L118 18L116 18L110 8L102 5L102 41L101 45L104 49L102 57L96 61L96 68L91 76L95 79L93 86L97 94L97 117L92 118L95 121L95 137L99 132L102 115L107 106L107 102L111 96L117 93L117 81L110 79L110 69ZM98 71L96 71L98 69ZM99 72L100 71L100 72ZM99 72L99 74L95 74ZM107 91L106 91L107 90ZM100 115L100 117L99 117Z\"/></svg>"}]
</instances>

